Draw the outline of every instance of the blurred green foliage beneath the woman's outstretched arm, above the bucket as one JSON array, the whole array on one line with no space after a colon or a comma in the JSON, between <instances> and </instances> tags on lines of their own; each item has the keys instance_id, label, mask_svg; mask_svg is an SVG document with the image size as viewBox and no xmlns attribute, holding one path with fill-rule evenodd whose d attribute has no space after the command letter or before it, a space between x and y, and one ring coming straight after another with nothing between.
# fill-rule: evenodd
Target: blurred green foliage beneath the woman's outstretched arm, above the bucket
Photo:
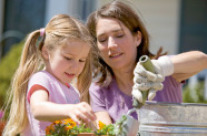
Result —
<instances>
[{"instance_id":1,"label":"blurred green foliage beneath the woman's outstretched arm, above the bucket","mask_svg":"<svg viewBox=\"0 0 207 136\"><path fill-rule=\"evenodd\" d=\"M204 82L198 82L193 89L189 85L183 88L183 102L185 103L207 103L204 99Z\"/></svg>"}]
</instances>

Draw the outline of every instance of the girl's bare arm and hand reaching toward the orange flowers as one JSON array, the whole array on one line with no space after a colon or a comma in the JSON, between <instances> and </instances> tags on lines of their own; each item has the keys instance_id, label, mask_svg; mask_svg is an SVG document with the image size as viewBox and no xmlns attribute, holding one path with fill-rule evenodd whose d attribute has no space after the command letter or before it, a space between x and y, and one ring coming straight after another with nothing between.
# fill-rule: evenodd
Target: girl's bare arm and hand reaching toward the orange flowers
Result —
<instances>
[{"instance_id":1,"label":"girl's bare arm and hand reaching toward the orange flowers","mask_svg":"<svg viewBox=\"0 0 207 136\"><path fill-rule=\"evenodd\" d=\"M35 91L30 98L31 112L41 121L55 121L72 118L75 122L80 120L89 123L96 119L91 107L81 102L79 104L56 104L48 101L48 93L45 90Z\"/></svg>"}]
</instances>

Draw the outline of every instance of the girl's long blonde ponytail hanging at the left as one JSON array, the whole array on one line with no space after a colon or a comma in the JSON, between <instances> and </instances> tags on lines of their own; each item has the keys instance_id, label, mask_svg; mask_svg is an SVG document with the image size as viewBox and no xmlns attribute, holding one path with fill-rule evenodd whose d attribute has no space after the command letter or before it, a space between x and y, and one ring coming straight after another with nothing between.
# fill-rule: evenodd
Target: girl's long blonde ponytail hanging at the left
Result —
<instances>
[{"instance_id":1,"label":"girl's long blonde ponytail hanging at the left","mask_svg":"<svg viewBox=\"0 0 207 136\"><path fill-rule=\"evenodd\" d=\"M41 64L40 48L43 42L40 41L37 45L39 36L39 30L30 33L24 44L20 64L13 77L6 106L8 108L11 103L8 121L3 132L4 136L17 135L28 123L26 93L30 76L40 68Z\"/></svg>"}]
</instances>

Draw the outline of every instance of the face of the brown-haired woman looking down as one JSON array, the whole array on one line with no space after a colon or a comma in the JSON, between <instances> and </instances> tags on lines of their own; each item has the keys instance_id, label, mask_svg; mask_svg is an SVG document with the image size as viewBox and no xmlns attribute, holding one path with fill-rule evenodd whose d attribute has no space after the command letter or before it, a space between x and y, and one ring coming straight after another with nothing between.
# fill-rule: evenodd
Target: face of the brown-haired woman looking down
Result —
<instances>
[{"instance_id":1,"label":"face of the brown-haired woman looking down","mask_svg":"<svg viewBox=\"0 0 207 136\"><path fill-rule=\"evenodd\" d=\"M100 18L96 26L97 45L103 60L113 69L133 69L141 34L132 35L120 21Z\"/></svg>"}]
</instances>

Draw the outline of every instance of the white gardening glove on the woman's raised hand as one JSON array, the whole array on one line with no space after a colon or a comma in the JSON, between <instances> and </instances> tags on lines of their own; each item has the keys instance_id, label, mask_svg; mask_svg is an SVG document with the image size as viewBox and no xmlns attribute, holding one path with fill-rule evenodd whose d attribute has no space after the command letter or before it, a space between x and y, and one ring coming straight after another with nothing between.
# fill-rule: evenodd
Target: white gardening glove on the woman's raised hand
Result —
<instances>
[{"instance_id":1,"label":"white gardening glove on the woman's raised hand","mask_svg":"<svg viewBox=\"0 0 207 136\"><path fill-rule=\"evenodd\" d=\"M141 91L148 91L148 100L152 100L156 96L158 90L163 89L162 82L165 76L172 75L174 66L168 56L162 56L158 60L151 60L155 73L147 71L140 62L137 63L134 69L134 86L132 95L143 103L143 96Z\"/></svg>"}]
</instances>

